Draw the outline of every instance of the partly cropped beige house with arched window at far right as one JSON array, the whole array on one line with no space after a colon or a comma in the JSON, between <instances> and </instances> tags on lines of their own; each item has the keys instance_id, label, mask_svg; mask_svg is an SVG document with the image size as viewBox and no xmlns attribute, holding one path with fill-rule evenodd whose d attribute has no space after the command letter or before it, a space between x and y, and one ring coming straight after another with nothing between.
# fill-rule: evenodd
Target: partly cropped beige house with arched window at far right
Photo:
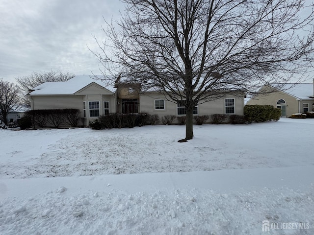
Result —
<instances>
[{"instance_id":1,"label":"partly cropped beige house with arched window at far right","mask_svg":"<svg viewBox=\"0 0 314 235\"><path fill-rule=\"evenodd\" d=\"M270 94L259 94L252 97L246 104L268 104L280 108L282 117L290 117L295 113L304 113L314 109L314 80L313 83L288 83L281 89L276 85L265 85L262 91L273 90Z\"/></svg>"}]
</instances>

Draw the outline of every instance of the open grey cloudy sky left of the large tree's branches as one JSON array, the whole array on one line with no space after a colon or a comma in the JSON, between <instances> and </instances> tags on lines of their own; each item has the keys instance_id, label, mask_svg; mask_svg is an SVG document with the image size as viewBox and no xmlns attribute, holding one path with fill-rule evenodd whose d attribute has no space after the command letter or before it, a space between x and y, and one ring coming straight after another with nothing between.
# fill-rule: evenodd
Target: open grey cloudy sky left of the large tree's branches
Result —
<instances>
[{"instance_id":1,"label":"open grey cloudy sky left of the large tree's branches","mask_svg":"<svg viewBox=\"0 0 314 235\"><path fill-rule=\"evenodd\" d=\"M119 20L118 0L0 0L0 78L33 71L99 74L92 35L105 40L103 17ZM88 47L87 47L88 46Z\"/></svg>"}]
</instances>

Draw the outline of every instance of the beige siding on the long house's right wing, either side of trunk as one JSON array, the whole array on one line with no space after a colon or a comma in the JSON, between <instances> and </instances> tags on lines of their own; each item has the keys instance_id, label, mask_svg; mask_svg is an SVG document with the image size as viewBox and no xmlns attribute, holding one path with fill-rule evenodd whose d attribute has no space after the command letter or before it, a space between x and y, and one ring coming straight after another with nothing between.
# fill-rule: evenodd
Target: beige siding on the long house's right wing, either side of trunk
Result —
<instances>
[{"instance_id":1,"label":"beige siding on the long house's right wing, either side of trunk","mask_svg":"<svg viewBox=\"0 0 314 235\"><path fill-rule=\"evenodd\" d=\"M244 97L231 94L217 100L199 102L198 115L225 114L225 98L234 98L235 114L243 115ZM164 109L155 109L155 100L164 100ZM157 114L160 118L165 115L178 116L177 103L166 100L162 94L140 94L140 112Z\"/></svg>"}]
</instances>

